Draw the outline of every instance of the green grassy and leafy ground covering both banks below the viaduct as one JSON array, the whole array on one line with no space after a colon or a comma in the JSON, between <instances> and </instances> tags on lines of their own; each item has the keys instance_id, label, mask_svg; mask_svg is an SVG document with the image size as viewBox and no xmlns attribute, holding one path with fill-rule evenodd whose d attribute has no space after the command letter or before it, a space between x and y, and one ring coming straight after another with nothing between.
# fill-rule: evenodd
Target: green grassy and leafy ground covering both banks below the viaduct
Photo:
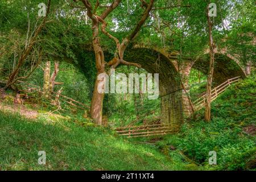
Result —
<instances>
[{"instance_id":1,"label":"green grassy and leafy ground covering both banks below the viaduct","mask_svg":"<svg viewBox=\"0 0 256 182\"><path fill-rule=\"evenodd\" d=\"M254 169L255 75L231 86L213 102L213 118L184 123L181 133L167 135L156 146L136 144L109 130L81 127L73 122L28 120L0 112L1 169L173 170ZM47 164L38 164L38 151ZM209 151L217 152L217 166L208 165Z\"/></svg>"}]
</instances>

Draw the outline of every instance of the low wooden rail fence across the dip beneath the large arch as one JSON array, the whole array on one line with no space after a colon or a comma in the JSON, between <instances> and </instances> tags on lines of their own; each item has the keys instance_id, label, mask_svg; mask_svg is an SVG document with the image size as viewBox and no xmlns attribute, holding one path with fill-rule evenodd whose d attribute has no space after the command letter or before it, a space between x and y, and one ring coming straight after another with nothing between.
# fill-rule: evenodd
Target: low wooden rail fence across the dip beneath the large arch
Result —
<instances>
[{"instance_id":1,"label":"low wooden rail fence across the dip beneath the large arch","mask_svg":"<svg viewBox=\"0 0 256 182\"><path fill-rule=\"evenodd\" d=\"M115 128L115 130L119 135L128 138L150 137L174 133L173 127L164 124L118 127Z\"/></svg>"}]
</instances>

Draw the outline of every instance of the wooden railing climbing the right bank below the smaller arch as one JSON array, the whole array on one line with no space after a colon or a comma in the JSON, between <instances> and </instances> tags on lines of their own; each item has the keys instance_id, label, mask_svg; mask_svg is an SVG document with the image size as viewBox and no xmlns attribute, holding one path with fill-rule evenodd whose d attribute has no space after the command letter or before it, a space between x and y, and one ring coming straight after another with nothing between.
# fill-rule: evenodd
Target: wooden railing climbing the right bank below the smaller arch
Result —
<instances>
[{"instance_id":1,"label":"wooden railing climbing the right bank below the smaller arch","mask_svg":"<svg viewBox=\"0 0 256 182\"><path fill-rule=\"evenodd\" d=\"M240 80L240 76L234 77L231 79L228 79L227 81L223 82L222 84L218 85L217 87L213 88L211 93L212 93L212 101L216 100L218 95L220 95L222 92L224 92L233 82L237 82ZM193 102L194 109L195 110L200 110L205 106L205 101L206 101L206 94L201 96L199 99Z\"/></svg>"}]
</instances>

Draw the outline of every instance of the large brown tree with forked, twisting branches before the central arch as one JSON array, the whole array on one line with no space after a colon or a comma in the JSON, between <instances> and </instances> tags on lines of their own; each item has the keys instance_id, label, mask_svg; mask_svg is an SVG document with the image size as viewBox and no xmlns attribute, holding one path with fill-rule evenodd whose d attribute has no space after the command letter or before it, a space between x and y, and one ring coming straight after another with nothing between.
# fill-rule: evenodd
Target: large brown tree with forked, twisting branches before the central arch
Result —
<instances>
[{"instance_id":1,"label":"large brown tree with forked, twisting branches before the central arch","mask_svg":"<svg viewBox=\"0 0 256 182\"><path fill-rule=\"evenodd\" d=\"M135 37L138 35L139 30L141 30L142 25L144 24L147 17L149 16L152 6L154 5L154 0L150 0L149 3L147 3L144 0L141 0L142 2L141 7L144 9L142 18L139 20L139 22L137 23L137 26L134 28L131 34L126 36L125 39L123 39L122 43L120 43L117 38L115 38L113 35L109 34L108 31L106 31L107 24L105 22L105 18L110 13L112 13L114 9L118 7L121 0L115 0L111 5L106 6L106 10L103 11L101 15L97 15L98 7L102 7L98 0L96 1L94 9L90 1L81 0L81 2L84 4L86 8L88 17L92 20L92 39L93 39L92 44L93 44L94 54L96 57L97 76L100 75L101 73L105 73L106 66L116 68L119 64L125 64L125 65L134 65L136 67L141 67L141 65L139 64L129 63L123 60L123 55L128 44L135 39ZM116 44L116 51L114 54L114 58L108 63L105 61L104 51L100 45L100 39L99 39L100 23L101 23L101 31L110 39L113 39ZM97 76L94 84L92 102L90 106L90 116L95 120L97 125L101 125L104 93L98 93L98 86L100 85L101 80L98 80Z\"/></svg>"}]
</instances>

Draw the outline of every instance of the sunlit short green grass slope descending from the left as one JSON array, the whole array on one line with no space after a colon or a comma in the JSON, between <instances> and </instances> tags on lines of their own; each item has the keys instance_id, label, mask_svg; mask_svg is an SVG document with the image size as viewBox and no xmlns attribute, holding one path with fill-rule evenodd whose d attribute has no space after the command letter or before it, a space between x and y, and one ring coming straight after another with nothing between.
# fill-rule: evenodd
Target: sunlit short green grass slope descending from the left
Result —
<instances>
[{"instance_id":1,"label":"sunlit short green grass slope descending from the left","mask_svg":"<svg viewBox=\"0 0 256 182\"><path fill-rule=\"evenodd\" d=\"M184 169L156 148L131 143L109 130L0 113L2 170L175 170ZM46 165L38 164L46 151Z\"/></svg>"}]
</instances>

